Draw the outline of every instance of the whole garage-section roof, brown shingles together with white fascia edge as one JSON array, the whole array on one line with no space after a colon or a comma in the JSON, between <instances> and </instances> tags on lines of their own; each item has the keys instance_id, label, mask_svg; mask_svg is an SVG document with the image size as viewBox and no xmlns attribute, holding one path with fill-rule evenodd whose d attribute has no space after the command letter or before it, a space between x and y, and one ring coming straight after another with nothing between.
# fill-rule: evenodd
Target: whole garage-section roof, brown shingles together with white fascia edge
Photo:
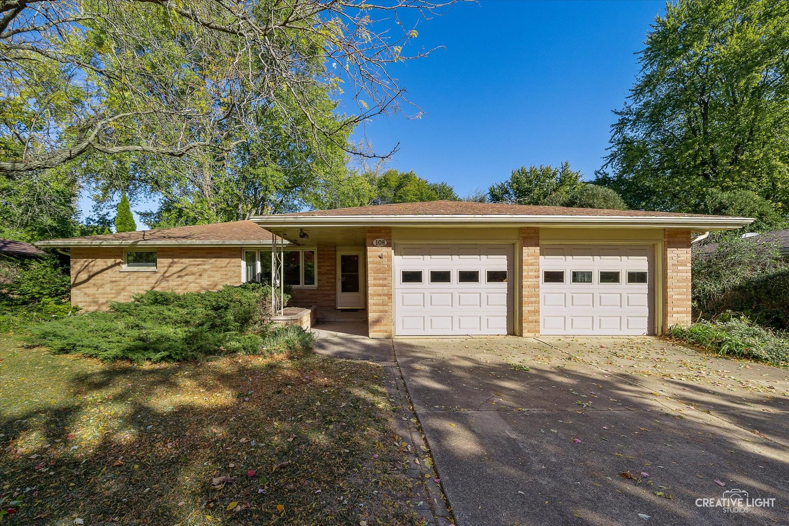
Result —
<instances>
[{"instance_id":1,"label":"whole garage-section roof, brown shingles together with white fascia edge","mask_svg":"<svg viewBox=\"0 0 789 526\"><path fill-rule=\"evenodd\" d=\"M747 225L753 222L753 219L639 210L429 201L426 203L394 203L293 214L261 215L252 218L252 221L264 227L484 223L533 224L535 226L573 224L576 226L675 226L692 229L731 229Z\"/></svg>"}]
</instances>

